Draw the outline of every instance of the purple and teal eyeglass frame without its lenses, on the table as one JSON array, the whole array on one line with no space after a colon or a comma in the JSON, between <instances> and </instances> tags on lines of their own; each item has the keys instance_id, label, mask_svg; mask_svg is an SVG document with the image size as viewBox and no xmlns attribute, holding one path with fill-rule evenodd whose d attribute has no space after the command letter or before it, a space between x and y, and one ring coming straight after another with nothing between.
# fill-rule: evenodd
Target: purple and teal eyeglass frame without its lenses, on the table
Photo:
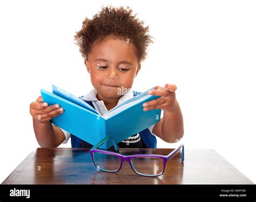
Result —
<instances>
[{"instance_id":1,"label":"purple and teal eyeglass frame without its lenses, on the table","mask_svg":"<svg viewBox=\"0 0 256 202\"><path fill-rule=\"evenodd\" d=\"M156 176L160 176L160 175L163 175L164 171L165 171L165 165L166 163L169 161L169 159L171 159L172 157L174 157L176 154L179 153L180 149L181 149L181 163L184 162L184 144L181 144L178 148L174 149L173 151L170 152L169 155L147 155L147 154L139 154L139 155L121 155L121 154L118 154L116 152L112 152L112 151L106 151L106 150L101 150L101 149L97 149L100 147L100 145L104 144L104 142L110 138L112 141L112 137L111 136L106 136L102 141L100 141L98 144L96 144L94 147L92 147L90 149L90 155L92 157L92 161L93 163L95 164L96 168L97 168L97 164L95 163L95 159L93 157L93 153L94 152L100 152L100 153L103 153L103 154L109 154L109 155L113 155L113 156L117 156L119 157L120 159L120 166L117 170L114 170L114 171L107 171L107 170L104 170L104 169L100 169L99 170L102 170L102 171L105 171L105 172L118 172L121 168L122 168L122 165L123 165L123 162L124 161L127 161L129 162L132 170L137 173L138 175L141 175L141 176L147 176L147 177L156 177ZM116 151L118 151L118 145L113 141L113 145L114 145L114 149ZM147 175L147 174L144 174L144 173L139 173L136 171L136 169L134 169L134 166L132 164L132 158L135 158L135 157L157 157L157 158L161 158L163 159L163 162L164 162L164 169L161 173L157 174L157 175Z\"/></svg>"}]
</instances>

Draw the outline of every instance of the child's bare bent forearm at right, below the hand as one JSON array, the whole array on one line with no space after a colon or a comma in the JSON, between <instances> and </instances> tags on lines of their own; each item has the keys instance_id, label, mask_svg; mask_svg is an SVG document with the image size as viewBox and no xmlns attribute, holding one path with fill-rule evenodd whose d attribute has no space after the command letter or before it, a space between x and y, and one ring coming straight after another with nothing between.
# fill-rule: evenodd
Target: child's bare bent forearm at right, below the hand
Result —
<instances>
[{"instance_id":1,"label":"child's bare bent forearm at right, below the hand","mask_svg":"<svg viewBox=\"0 0 256 202\"><path fill-rule=\"evenodd\" d=\"M183 137L183 116L177 100L173 110L164 112L163 119L154 125L152 132L169 143L178 142Z\"/></svg>"}]
</instances>

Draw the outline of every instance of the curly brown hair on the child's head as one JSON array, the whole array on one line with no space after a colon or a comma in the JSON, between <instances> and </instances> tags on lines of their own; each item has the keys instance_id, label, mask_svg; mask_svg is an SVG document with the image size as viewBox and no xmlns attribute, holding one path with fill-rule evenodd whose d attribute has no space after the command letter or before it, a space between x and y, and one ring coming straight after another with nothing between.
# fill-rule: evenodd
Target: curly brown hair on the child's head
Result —
<instances>
[{"instance_id":1,"label":"curly brown hair on the child's head","mask_svg":"<svg viewBox=\"0 0 256 202\"><path fill-rule=\"evenodd\" d=\"M153 43L153 37L149 34L149 26L144 26L144 21L140 21L136 15L132 15L129 6L126 9L123 6L103 6L92 19L86 17L82 29L75 35L82 57L87 58L93 46L104 38L113 37L126 42L129 39L129 43L134 45L138 61L145 60L147 46Z\"/></svg>"}]
</instances>

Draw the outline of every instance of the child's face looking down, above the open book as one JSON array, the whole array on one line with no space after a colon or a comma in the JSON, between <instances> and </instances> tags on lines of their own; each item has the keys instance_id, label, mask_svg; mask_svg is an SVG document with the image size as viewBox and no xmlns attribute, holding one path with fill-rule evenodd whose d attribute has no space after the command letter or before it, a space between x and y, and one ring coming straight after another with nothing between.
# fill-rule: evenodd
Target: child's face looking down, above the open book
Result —
<instances>
[{"instance_id":1,"label":"child's face looking down, above the open book","mask_svg":"<svg viewBox=\"0 0 256 202\"><path fill-rule=\"evenodd\" d=\"M94 46L85 59L85 65L98 99L110 102L132 87L140 69L133 44L114 38L107 38Z\"/></svg>"}]
</instances>

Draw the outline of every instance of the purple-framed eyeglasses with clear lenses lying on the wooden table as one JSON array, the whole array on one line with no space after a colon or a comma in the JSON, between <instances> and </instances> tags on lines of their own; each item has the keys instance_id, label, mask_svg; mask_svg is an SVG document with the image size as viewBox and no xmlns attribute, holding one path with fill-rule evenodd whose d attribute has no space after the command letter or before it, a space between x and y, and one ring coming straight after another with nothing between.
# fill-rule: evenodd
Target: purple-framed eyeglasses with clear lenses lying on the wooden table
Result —
<instances>
[{"instance_id":1,"label":"purple-framed eyeglasses with clear lenses lying on the wooden table","mask_svg":"<svg viewBox=\"0 0 256 202\"><path fill-rule=\"evenodd\" d=\"M100 145L112 137L106 136L102 141L90 149L92 161L95 164L97 171L118 172L124 161L128 161L132 170L138 175L147 177L156 177L163 175L165 165L181 149L181 163L184 162L184 145L181 144L177 149L174 149L169 155L121 155L113 151L98 149ZM113 141L114 149L118 151L118 145Z\"/></svg>"}]
</instances>

